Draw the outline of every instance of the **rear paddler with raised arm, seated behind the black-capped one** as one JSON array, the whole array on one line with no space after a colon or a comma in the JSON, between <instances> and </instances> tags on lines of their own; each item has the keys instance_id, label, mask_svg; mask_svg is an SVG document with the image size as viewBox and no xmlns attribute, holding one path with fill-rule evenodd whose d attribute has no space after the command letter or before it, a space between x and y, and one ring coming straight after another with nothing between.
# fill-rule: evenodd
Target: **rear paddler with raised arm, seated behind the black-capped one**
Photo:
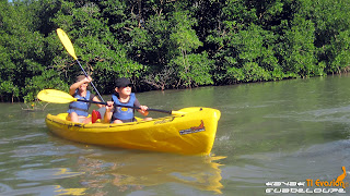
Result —
<instances>
[{"instance_id":1,"label":"rear paddler with raised arm, seated behind the black-capped one","mask_svg":"<svg viewBox=\"0 0 350 196\"><path fill-rule=\"evenodd\" d=\"M77 82L72 84L69 88L69 94L78 99L100 101L100 99L88 90L88 85L92 78L85 75L79 75ZM90 102L74 101L69 105L68 120L79 123L90 123L92 121L89 115ZM97 105L98 108L104 107L103 105Z\"/></svg>"}]
</instances>

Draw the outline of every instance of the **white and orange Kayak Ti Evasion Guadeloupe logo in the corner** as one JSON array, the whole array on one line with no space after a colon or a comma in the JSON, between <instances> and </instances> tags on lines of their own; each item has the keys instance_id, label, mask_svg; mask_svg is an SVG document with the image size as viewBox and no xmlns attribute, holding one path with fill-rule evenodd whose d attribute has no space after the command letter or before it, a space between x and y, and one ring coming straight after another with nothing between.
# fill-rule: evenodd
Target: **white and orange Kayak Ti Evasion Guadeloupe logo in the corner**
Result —
<instances>
[{"instance_id":1,"label":"white and orange Kayak Ti Evasion Guadeloupe logo in the corner","mask_svg":"<svg viewBox=\"0 0 350 196\"><path fill-rule=\"evenodd\" d=\"M282 193L282 194L330 194L330 193L347 193L346 188L349 182L343 182L347 176L346 167L342 167L342 174L331 181L306 179L306 182L267 182L266 193Z\"/></svg>"}]
</instances>

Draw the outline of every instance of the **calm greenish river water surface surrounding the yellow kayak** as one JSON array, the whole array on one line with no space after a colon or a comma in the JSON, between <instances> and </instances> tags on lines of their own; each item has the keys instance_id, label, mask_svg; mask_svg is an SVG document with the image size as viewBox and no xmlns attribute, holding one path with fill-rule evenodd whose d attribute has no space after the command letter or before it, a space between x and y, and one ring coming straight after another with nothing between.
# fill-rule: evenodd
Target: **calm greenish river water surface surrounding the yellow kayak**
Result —
<instances>
[{"instance_id":1,"label":"calm greenish river water surface surrounding the yellow kayak","mask_svg":"<svg viewBox=\"0 0 350 196\"><path fill-rule=\"evenodd\" d=\"M150 108L219 109L211 157L72 143L44 121L68 106L0 103L0 195L272 195L267 182L331 181L350 171L349 84L342 75L137 94Z\"/></svg>"}]
</instances>

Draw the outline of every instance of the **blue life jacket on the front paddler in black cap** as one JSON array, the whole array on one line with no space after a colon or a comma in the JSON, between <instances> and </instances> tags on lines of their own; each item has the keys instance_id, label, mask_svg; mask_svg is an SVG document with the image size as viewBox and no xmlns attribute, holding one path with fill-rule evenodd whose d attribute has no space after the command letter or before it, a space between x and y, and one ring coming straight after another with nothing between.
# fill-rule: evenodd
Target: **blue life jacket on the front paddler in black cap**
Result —
<instances>
[{"instance_id":1,"label":"blue life jacket on the front paddler in black cap","mask_svg":"<svg viewBox=\"0 0 350 196\"><path fill-rule=\"evenodd\" d=\"M116 95L112 95L112 100L114 101L115 105L133 107L136 96L133 93L131 93L130 99L128 102L120 102ZM119 120L133 119L133 109L132 108L124 108L124 107L115 107L114 113L113 113L113 119L119 119Z\"/></svg>"}]
</instances>

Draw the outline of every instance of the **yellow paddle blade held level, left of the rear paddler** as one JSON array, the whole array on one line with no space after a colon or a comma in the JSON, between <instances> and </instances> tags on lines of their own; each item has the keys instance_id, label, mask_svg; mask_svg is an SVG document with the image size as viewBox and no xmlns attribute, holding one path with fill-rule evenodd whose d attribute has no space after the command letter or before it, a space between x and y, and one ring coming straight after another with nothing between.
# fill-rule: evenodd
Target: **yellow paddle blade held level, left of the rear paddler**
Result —
<instances>
[{"instance_id":1,"label":"yellow paddle blade held level, left of the rear paddler","mask_svg":"<svg viewBox=\"0 0 350 196\"><path fill-rule=\"evenodd\" d=\"M57 89L43 89L37 94L37 98L42 101L46 102L55 102L55 103L68 103L72 101L77 101L77 98L71 95L57 90Z\"/></svg>"}]
</instances>

